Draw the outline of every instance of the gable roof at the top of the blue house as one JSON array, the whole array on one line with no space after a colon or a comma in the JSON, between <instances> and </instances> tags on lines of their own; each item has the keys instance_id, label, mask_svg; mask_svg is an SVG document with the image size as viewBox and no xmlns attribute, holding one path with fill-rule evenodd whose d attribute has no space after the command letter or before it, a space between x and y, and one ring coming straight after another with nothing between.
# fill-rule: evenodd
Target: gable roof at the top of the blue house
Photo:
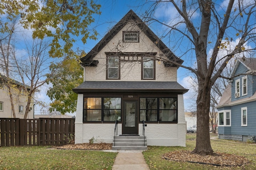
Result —
<instances>
[{"instance_id":1,"label":"gable roof at the top of the blue house","mask_svg":"<svg viewBox=\"0 0 256 170\"><path fill-rule=\"evenodd\" d=\"M230 72L230 77L234 76L240 63L248 68L249 72L247 73L256 73L256 58L238 58Z\"/></svg>"}]
</instances>

